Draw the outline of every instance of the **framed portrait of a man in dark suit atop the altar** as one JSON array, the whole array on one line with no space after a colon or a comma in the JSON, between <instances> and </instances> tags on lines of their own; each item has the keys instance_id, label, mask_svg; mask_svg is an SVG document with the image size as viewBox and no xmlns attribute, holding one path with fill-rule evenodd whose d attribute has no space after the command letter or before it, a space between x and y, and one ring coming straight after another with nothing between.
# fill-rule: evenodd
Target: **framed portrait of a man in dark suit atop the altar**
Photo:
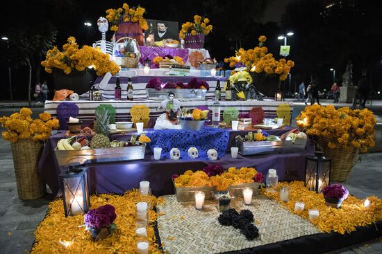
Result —
<instances>
[{"instance_id":1,"label":"framed portrait of a man in dark suit atop the altar","mask_svg":"<svg viewBox=\"0 0 382 254\"><path fill-rule=\"evenodd\" d=\"M165 21L158 19L146 19L149 24L149 30L144 31L144 39L147 39L150 33L150 24L153 24L154 41L159 42L163 39L178 39L178 22Z\"/></svg>"}]
</instances>

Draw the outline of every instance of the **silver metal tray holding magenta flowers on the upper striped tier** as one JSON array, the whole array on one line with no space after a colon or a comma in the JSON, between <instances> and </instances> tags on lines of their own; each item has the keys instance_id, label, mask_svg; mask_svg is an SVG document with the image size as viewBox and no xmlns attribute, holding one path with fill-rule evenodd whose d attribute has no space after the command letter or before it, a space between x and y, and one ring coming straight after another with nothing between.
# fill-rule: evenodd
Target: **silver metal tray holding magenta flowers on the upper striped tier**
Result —
<instances>
[{"instance_id":1,"label":"silver metal tray holding magenta flowers on the upper striped tier","mask_svg":"<svg viewBox=\"0 0 382 254\"><path fill-rule=\"evenodd\" d=\"M178 100L204 100L206 98L206 89L160 89L147 88L147 98L150 100L166 100L169 93L174 93Z\"/></svg>"}]
</instances>

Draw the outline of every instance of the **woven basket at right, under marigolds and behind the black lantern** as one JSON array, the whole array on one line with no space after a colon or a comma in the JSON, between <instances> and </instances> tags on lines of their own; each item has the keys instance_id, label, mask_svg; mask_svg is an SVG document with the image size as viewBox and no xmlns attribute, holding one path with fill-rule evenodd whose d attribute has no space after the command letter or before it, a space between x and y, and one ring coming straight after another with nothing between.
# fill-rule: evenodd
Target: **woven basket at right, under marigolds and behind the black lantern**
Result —
<instances>
[{"instance_id":1,"label":"woven basket at right, under marigolds and behind the black lantern","mask_svg":"<svg viewBox=\"0 0 382 254\"><path fill-rule=\"evenodd\" d=\"M315 140L322 148L324 155L331 158L331 181L346 181L351 169L358 161L358 149L355 147L345 149L342 146L330 148L328 138L316 137Z\"/></svg>"}]
</instances>

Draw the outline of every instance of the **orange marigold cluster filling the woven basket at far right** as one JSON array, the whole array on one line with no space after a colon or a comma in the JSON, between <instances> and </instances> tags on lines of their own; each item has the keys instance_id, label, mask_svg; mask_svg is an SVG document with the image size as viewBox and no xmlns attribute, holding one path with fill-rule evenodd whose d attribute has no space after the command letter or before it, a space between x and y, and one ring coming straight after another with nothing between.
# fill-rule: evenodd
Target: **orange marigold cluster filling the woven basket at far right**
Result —
<instances>
[{"instance_id":1,"label":"orange marigold cluster filling the woven basket at far right","mask_svg":"<svg viewBox=\"0 0 382 254\"><path fill-rule=\"evenodd\" d=\"M328 138L331 148L343 145L366 152L367 147L375 145L376 118L369 109L335 109L333 105L312 105L306 107L296 120L298 127L306 129L306 134Z\"/></svg>"}]
</instances>

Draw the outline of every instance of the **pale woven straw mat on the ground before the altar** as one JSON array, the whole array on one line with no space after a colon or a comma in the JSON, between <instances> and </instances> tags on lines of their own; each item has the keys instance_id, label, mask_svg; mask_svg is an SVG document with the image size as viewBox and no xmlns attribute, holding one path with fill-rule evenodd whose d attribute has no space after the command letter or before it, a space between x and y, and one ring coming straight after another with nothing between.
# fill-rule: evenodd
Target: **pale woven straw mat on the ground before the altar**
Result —
<instances>
[{"instance_id":1,"label":"pale woven straw mat on the ground before the altar","mask_svg":"<svg viewBox=\"0 0 382 254\"><path fill-rule=\"evenodd\" d=\"M165 203L158 206L158 231L164 251L171 254L239 251L320 233L309 221L260 194L254 197L252 206L244 206L242 199L231 203L238 212L249 209L254 213L260 236L252 241L245 239L240 230L219 224L217 201L205 201L204 210L199 211L194 202L178 202L175 195L164 198Z\"/></svg>"}]
</instances>

